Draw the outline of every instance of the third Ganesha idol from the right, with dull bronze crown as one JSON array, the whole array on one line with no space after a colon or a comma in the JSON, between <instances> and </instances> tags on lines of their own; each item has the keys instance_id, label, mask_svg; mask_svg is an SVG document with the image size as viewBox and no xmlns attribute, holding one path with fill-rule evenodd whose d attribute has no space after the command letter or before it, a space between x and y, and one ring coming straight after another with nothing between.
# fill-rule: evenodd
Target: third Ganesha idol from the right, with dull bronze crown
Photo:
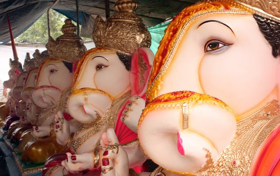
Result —
<instances>
[{"instance_id":1,"label":"third Ganesha idol from the right, with dull bronze crown","mask_svg":"<svg viewBox=\"0 0 280 176\"><path fill-rule=\"evenodd\" d=\"M26 143L21 155L23 160L41 163L50 155L64 151L63 146L56 142L54 133L54 115L57 111L67 117L71 132L75 132L80 126L80 123L67 114L66 106L72 88L73 62L86 51L82 39L74 33L76 30L77 27L67 19L61 29L63 35L56 40L50 38L46 45L50 57L39 67L32 94L34 103L43 110L33 131L24 133L21 137L21 141Z\"/></svg>"}]
</instances>

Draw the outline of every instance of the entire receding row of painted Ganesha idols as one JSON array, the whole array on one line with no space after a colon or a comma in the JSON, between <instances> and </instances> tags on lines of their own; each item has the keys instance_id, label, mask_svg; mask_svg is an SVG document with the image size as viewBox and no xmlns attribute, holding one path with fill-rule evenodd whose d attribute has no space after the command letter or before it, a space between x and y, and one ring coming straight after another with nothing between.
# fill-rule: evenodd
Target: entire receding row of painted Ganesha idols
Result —
<instances>
[{"instance_id":1,"label":"entire receding row of painted Ganesha idols","mask_svg":"<svg viewBox=\"0 0 280 176\"><path fill-rule=\"evenodd\" d=\"M13 91L26 108L11 140L33 126L14 135L22 159L45 161L44 175L278 175L280 2L269 2L187 7L155 58L133 1L96 19L89 51L66 20ZM141 172L148 158L159 167Z\"/></svg>"}]
</instances>

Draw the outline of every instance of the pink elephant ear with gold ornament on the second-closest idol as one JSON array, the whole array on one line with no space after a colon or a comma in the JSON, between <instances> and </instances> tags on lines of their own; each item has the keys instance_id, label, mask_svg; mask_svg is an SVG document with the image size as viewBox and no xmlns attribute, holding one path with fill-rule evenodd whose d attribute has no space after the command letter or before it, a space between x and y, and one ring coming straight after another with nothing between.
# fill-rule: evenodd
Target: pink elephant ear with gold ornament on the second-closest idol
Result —
<instances>
[{"instance_id":1,"label":"pink elephant ear with gold ornament on the second-closest idol","mask_svg":"<svg viewBox=\"0 0 280 176\"><path fill-rule=\"evenodd\" d=\"M154 62L154 53L149 48L139 48L131 59L130 82L132 96L145 97L149 75Z\"/></svg>"}]
</instances>

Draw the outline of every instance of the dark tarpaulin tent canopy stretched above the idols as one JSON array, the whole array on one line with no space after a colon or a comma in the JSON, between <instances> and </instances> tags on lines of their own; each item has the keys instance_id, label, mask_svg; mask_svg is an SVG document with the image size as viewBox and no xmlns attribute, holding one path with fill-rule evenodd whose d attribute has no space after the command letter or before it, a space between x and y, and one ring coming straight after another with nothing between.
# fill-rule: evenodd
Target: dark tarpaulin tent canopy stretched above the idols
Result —
<instances>
[{"instance_id":1,"label":"dark tarpaulin tent canopy stretched above the idols","mask_svg":"<svg viewBox=\"0 0 280 176\"><path fill-rule=\"evenodd\" d=\"M117 0L110 0L110 15ZM196 0L135 0L138 3L136 14L147 26L155 26L173 17ZM7 14L9 14L14 37L19 36L38 20L55 0L0 0L0 43L10 41ZM52 7L67 18L77 22L76 0L60 0ZM81 36L91 37L94 19L100 15L105 19L104 0L79 0ZM50 19L51 20L51 19Z\"/></svg>"}]
</instances>

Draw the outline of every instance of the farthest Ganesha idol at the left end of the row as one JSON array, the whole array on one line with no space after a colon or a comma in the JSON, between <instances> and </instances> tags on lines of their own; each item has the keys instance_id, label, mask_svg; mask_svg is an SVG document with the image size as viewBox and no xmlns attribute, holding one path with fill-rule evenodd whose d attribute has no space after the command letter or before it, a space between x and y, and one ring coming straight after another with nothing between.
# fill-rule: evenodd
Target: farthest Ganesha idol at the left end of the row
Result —
<instances>
[{"instance_id":1,"label":"farthest Ganesha idol at the left end of the row","mask_svg":"<svg viewBox=\"0 0 280 176\"><path fill-rule=\"evenodd\" d=\"M14 122L19 120L19 117L16 116L16 111L15 111L15 98L12 96L12 89L15 87L16 83L17 84L22 84L23 81L22 79L26 76L24 73L22 75L21 80L18 80L19 75L22 72L21 68L21 63L19 62L18 58L15 58L14 60L10 59L10 70L8 72L9 74L9 80L6 80L3 82L4 86L4 91L7 91L7 89L10 89L9 95L8 95L8 101L6 102L6 105L1 106L1 114L2 115L2 120L5 121L3 129L4 131L7 131L10 127L10 125ZM22 85L21 85L22 86ZM18 95L16 95L18 96ZM17 97L19 98L19 97ZM9 114L7 115L7 109L9 109Z\"/></svg>"}]
</instances>

